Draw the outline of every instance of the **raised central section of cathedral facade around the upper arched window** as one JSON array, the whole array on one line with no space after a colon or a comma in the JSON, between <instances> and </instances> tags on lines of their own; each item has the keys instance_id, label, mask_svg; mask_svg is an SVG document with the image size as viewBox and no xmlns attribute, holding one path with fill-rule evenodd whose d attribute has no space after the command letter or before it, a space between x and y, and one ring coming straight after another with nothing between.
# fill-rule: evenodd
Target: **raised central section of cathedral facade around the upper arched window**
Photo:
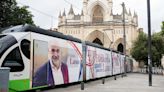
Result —
<instances>
[{"instance_id":1,"label":"raised central section of cathedral facade around the upper arched window","mask_svg":"<svg viewBox=\"0 0 164 92\"><path fill-rule=\"evenodd\" d=\"M84 21L111 21L112 7L112 0L83 0Z\"/></svg>"}]
</instances>

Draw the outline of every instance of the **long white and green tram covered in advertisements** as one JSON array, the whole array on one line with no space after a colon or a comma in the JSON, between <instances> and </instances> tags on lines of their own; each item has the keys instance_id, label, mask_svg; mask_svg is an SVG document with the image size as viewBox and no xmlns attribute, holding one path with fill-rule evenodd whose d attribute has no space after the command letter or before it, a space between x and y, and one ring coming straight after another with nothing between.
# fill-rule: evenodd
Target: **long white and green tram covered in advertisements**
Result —
<instances>
[{"instance_id":1,"label":"long white and green tram covered in advertisements","mask_svg":"<svg viewBox=\"0 0 164 92\"><path fill-rule=\"evenodd\" d=\"M50 50L51 45L59 50ZM0 67L10 68L10 92L122 74L124 57L109 48L28 24L8 28L0 34ZM126 58L131 67L130 58ZM60 61L58 68L54 59Z\"/></svg>"}]
</instances>

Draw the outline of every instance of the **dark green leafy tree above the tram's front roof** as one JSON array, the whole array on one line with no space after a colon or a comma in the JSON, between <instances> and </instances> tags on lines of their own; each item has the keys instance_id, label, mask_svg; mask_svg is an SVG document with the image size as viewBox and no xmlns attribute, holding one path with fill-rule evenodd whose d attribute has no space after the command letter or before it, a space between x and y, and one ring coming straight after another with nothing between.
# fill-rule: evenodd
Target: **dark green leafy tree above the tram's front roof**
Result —
<instances>
[{"instance_id":1,"label":"dark green leafy tree above the tram's front roof","mask_svg":"<svg viewBox=\"0 0 164 92\"><path fill-rule=\"evenodd\" d=\"M32 14L27 6L18 7L15 0L1 0L0 2L0 28L11 25L32 24Z\"/></svg>"}]
</instances>

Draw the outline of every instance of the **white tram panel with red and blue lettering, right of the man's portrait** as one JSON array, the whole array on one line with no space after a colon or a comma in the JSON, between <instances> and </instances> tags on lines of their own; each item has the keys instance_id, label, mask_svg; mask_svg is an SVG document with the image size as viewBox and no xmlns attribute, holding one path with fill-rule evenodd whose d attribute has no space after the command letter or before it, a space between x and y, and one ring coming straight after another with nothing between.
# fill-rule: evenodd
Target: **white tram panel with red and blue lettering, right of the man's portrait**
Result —
<instances>
[{"instance_id":1,"label":"white tram panel with red and blue lettering, right of the man's portrait","mask_svg":"<svg viewBox=\"0 0 164 92\"><path fill-rule=\"evenodd\" d=\"M86 79L112 75L111 52L87 45Z\"/></svg>"}]
</instances>

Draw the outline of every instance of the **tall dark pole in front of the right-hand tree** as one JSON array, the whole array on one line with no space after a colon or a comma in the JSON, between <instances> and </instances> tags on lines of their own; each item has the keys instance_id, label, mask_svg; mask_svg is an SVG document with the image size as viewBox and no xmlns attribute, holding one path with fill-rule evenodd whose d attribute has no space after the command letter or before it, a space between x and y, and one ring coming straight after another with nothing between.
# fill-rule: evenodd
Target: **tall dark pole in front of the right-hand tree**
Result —
<instances>
[{"instance_id":1,"label":"tall dark pole in front of the right-hand tree","mask_svg":"<svg viewBox=\"0 0 164 92\"><path fill-rule=\"evenodd\" d=\"M151 15L151 13L150 13L150 0L147 0L149 86L152 86L151 16L150 15Z\"/></svg>"}]
</instances>

